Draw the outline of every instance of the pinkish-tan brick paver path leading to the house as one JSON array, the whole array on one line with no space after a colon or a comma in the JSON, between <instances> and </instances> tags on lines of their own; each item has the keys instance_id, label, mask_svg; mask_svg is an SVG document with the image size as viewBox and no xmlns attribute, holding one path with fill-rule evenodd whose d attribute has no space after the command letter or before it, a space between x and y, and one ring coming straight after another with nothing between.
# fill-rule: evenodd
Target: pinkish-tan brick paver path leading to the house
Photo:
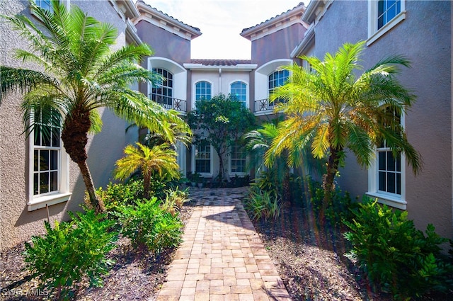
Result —
<instances>
[{"instance_id":1,"label":"pinkish-tan brick paver path leading to the house","mask_svg":"<svg viewBox=\"0 0 453 301\"><path fill-rule=\"evenodd\" d=\"M157 301L291 300L240 198L244 188L193 189L197 200Z\"/></svg>"}]
</instances>

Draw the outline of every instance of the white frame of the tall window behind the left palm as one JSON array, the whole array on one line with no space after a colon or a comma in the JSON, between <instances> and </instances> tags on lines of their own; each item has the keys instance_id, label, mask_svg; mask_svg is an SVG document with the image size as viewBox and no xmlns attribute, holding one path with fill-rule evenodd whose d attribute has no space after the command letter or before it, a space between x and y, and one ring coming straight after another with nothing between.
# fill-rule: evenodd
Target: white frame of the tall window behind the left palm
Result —
<instances>
[{"instance_id":1,"label":"white frame of the tall window behind the left palm","mask_svg":"<svg viewBox=\"0 0 453 301\"><path fill-rule=\"evenodd\" d=\"M57 191L34 195L34 155L35 149L57 149L56 147L35 146L35 133L31 132L28 136L28 211L38 210L46 206L67 202L71 198L69 192L69 155L65 152L61 137L59 138L59 179Z\"/></svg>"}]
</instances>

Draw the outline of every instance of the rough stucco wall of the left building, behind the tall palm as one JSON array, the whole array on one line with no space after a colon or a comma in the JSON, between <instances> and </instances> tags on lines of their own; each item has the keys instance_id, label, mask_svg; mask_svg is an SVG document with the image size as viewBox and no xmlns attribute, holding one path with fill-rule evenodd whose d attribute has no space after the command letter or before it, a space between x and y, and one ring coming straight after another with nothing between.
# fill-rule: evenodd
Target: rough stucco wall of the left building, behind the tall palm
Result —
<instances>
[{"instance_id":1,"label":"rough stucco wall of the left building, behind the tall palm","mask_svg":"<svg viewBox=\"0 0 453 301\"><path fill-rule=\"evenodd\" d=\"M108 21L118 28L115 48L125 45L125 23L118 16L109 1L71 1L78 4L89 15L100 21ZM30 17L28 1L1 0L0 13L13 15L25 14ZM27 47L18 39L9 25L0 22L0 64L11 67L33 68L13 59L11 52L15 48ZM11 95L4 99L0 106L0 250L13 246L34 234L44 231L43 221L47 220L47 210L32 212L27 210L28 187L28 142L21 123L20 95ZM101 110L103 131L91 137L88 145L88 166L91 169L95 186L105 186L111 178L113 164L122 157L125 144L134 140L134 132L125 134L126 123L116 118L108 110ZM85 186L79 169L70 162L69 190L73 193L71 200L49 207L50 220L67 219L67 210L80 210Z\"/></svg>"}]
</instances>

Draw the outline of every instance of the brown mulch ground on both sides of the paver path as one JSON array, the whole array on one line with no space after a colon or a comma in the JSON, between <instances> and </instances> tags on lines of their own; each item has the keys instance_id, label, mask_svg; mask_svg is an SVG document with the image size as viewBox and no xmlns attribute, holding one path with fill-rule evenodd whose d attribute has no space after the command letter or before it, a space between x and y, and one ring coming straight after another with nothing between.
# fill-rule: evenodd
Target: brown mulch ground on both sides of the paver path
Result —
<instances>
[{"instance_id":1,"label":"brown mulch ground on both sides of the paver path","mask_svg":"<svg viewBox=\"0 0 453 301\"><path fill-rule=\"evenodd\" d=\"M192 214L195 200L181 211L183 222ZM274 221L253 222L293 300L382 300L389 295L372 293L355 266L344 256L343 235L315 226L301 204L282 208ZM108 255L116 261L103 288L82 283L75 300L155 300L166 277L173 250L158 257L132 249L126 238ZM38 279L24 271L20 244L0 255L0 300L47 300L38 291ZM39 293L44 293L39 295ZM432 296L424 300L449 300Z\"/></svg>"}]
</instances>

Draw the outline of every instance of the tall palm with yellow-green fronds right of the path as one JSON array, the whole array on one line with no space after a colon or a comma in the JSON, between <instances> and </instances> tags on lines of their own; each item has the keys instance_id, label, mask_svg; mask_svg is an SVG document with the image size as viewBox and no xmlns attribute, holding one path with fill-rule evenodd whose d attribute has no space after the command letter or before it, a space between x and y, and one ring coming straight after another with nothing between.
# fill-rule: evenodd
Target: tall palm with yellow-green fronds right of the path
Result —
<instances>
[{"instance_id":1,"label":"tall palm with yellow-green fronds right of the path","mask_svg":"<svg viewBox=\"0 0 453 301\"><path fill-rule=\"evenodd\" d=\"M396 79L399 67L410 67L408 59L395 55L382 59L360 76L360 55L364 42L345 44L335 55L301 57L311 69L292 64L289 81L278 87L271 100L285 99L276 111L287 119L278 126L278 135L266 153L268 164L275 155L287 150L289 164L294 152L311 148L316 158L328 158L324 178L322 217L334 189L338 166L344 164L345 149L350 149L362 166L374 159L374 147L382 142L391 147L394 156L405 154L414 174L421 168L420 154L406 138L396 116L406 113L415 96Z\"/></svg>"}]
</instances>

